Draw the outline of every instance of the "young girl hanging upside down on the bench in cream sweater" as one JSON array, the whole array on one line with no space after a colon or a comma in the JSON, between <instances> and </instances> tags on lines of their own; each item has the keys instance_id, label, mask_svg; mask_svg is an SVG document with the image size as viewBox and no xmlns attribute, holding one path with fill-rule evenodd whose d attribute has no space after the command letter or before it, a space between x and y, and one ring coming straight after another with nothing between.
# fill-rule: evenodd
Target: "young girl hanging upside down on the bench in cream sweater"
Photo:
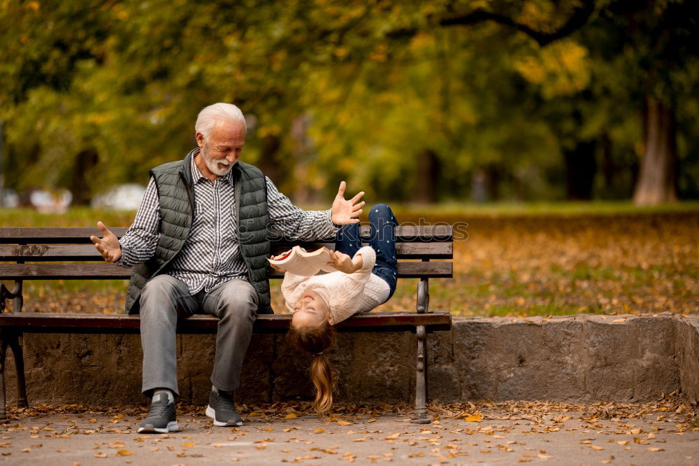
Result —
<instances>
[{"instance_id":1,"label":"young girl hanging upside down on the bench in cream sweater","mask_svg":"<svg viewBox=\"0 0 699 466\"><path fill-rule=\"evenodd\" d=\"M361 247L358 223L338 231L331 253L332 265L338 271L314 276L284 274L282 295L292 314L289 339L297 348L315 355L310 379L316 388L318 416L330 411L338 378L323 354L335 339L333 325L387 302L396 290L396 217L389 206L377 204L369 211L369 223L369 246Z\"/></svg>"}]
</instances>

